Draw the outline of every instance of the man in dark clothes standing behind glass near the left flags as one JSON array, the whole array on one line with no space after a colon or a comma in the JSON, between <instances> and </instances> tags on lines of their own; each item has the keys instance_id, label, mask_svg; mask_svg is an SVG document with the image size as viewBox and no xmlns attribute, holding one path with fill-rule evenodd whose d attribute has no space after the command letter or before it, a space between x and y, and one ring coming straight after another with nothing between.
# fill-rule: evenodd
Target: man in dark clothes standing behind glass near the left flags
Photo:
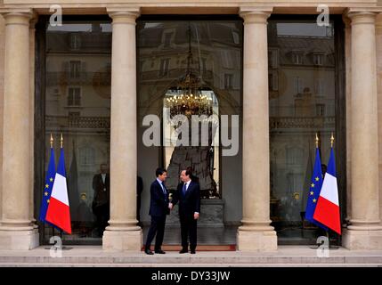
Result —
<instances>
[{"instance_id":1,"label":"man in dark clothes standing behind glass near the left flags","mask_svg":"<svg viewBox=\"0 0 382 285\"><path fill-rule=\"evenodd\" d=\"M108 225L110 219L110 175L105 163L100 166L101 173L93 176L93 214L96 216L96 226L99 236Z\"/></svg>"}]
</instances>

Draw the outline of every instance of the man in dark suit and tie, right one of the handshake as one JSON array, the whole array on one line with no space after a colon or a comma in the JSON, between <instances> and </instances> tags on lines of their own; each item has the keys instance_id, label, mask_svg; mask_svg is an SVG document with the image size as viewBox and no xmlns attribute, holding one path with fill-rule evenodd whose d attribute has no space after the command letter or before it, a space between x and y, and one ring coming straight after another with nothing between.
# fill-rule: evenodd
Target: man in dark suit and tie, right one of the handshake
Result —
<instances>
[{"instance_id":1,"label":"man in dark suit and tie, right one of the handshake","mask_svg":"<svg viewBox=\"0 0 382 285\"><path fill-rule=\"evenodd\" d=\"M179 219L181 222L182 250L188 252L188 238L190 237L190 251L195 253L197 245L197 221L200 213L200 187L199 183L191 180L191 169L184 169L181 181L174 193L170 208L179 202Z\"/></svg>"}]
</instances>

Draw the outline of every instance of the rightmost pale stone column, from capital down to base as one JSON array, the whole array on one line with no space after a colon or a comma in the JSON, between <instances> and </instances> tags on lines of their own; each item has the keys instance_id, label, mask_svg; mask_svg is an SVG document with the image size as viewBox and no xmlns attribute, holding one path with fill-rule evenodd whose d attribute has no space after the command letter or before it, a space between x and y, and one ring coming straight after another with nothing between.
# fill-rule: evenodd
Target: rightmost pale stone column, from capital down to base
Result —
<instances>
[{"instance_id":1,"label":"rightmost pale stone column, from capital down to base","mask_svg":"<svg viewBox=\"0 0 382 285\"><path fill-rule=\"evenodd\" d=\"M352 20L350 102L350 225L343 246L382 249L379 224L376 13L349 12Z\"/></svg>"}]
</instances>

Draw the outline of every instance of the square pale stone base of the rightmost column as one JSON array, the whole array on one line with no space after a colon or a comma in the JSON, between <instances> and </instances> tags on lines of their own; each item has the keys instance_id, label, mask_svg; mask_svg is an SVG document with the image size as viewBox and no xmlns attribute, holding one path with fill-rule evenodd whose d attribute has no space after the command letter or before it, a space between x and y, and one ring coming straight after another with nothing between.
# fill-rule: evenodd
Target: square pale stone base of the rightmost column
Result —
<instances>
[{"instance_id":1,"label":"square pale stone base of the rightmost column","mask_svg":"<svg viewBox=\"0 0 382 285\"><path fill-rule=\"evenodd\" d=\"M382 250L382 230L354 231L345 229L342 234L342 246L351 250Z\"/></svg>"}]
</instances>

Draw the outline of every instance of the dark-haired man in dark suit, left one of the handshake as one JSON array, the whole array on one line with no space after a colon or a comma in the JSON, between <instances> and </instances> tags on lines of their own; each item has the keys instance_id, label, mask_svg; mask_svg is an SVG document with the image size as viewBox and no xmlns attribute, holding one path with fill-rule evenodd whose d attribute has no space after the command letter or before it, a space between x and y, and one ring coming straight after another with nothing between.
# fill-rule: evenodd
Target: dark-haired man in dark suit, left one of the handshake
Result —
<instances>
[{"instance_id":1,"label":"dark-haired man in dark suit, left one of the handshake","mask_svg":"<svg viewBox=\"0 0 382 285\"><path fill-rule=\"evenodd\" d=\"M149 215L151 216L151 224L144 249L144 252L148 255L153 254L150 250L150 245L155 235L157 235L155 239L155 253L166 253L161 247L165 234L166 216L170 214L168 191L164 184L167 178L167 171L164 168L158 168L155 171L155 175L157 175L157 179L150 186Z\"/></svg>"}]
</instances>

